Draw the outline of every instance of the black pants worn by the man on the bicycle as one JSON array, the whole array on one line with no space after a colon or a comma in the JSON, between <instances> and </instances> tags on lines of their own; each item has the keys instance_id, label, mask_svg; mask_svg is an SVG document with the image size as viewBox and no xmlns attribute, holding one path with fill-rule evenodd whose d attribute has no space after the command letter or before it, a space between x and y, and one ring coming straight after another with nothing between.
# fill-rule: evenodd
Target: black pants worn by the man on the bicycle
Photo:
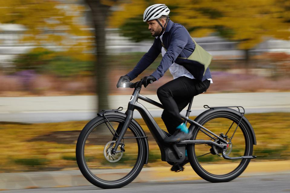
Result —
<instances>
[{"instance_id":1,"label":"black pants worn by the man on the bicycle","mask_svg":"<svg viewBox=\"0 0 290 193\"><path fill-rule=\"evenodd\" d=\"M181 76L158 88L157 96L164 106L161 119L170 134L184 122L179 115L181 110L188 105L193 96L203 93L209 86L209 80L199 81Z\"/></svg>"}]
</instances>

